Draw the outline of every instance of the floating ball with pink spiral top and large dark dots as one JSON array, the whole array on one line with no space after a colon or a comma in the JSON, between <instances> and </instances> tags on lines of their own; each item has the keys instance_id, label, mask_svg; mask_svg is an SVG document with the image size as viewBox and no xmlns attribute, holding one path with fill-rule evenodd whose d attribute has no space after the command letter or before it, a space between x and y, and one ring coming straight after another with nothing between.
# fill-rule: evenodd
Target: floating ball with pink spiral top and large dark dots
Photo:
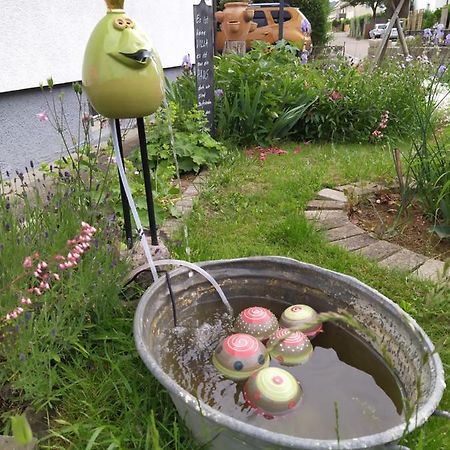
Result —
<instances>
[{"instance_id":1,"label":"floating ball with pink spiral top and large dark dots","mask_svg":"<svg viewBox=\"0 0 450 450\"><path fill-rule=\"evenodd\" d=\"M264 345L249 334L237 333L225 338L212 358L216 369L232 380L245 380L269 365L270 357Z\"/></svg>"}]
</instances>

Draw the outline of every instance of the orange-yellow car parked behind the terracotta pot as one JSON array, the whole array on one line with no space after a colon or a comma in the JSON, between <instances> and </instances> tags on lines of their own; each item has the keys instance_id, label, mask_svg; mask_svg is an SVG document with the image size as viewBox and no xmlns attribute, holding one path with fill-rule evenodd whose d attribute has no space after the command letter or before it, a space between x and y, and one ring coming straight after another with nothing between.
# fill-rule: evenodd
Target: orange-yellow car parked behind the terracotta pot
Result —
<instances>
[{"instance_id":1,"label":"orange-yellow car parked behind the terracotta pot","mask_svg":"<svg viewBox=\"0 0 450 450\"><path fill-rule=\"evenodd\" d=\"M255 11L253 22L257 24L254 31L250 31L246 40L247 48L252 41L265 41L274 44L278 41L279 33L279 3L254 3L248 6ZM299 48L299 50L312 50L311 25L308 19L298 8L286 6L284 8L284 39ZM225 44L222 31L216 33L217 50L221 52Z\"/></svg>"}]
</instances>

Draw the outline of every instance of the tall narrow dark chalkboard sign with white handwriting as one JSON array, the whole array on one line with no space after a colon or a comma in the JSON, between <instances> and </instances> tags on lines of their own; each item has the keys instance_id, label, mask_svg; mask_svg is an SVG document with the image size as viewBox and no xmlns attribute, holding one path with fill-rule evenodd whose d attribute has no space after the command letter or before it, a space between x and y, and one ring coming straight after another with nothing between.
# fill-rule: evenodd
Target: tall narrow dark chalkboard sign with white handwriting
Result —
<instances>
[{"instance_id":1,"label":"tall narrow dark chalkboard sign with white handwriting","mask_svg":"<svg viewBox=\"0 0 450 450\"><path fill-rule=\"evenodd\" d=\"M214 15L213 7L205 0L194 5L194 33L197 101L214 134Z\"/></svg>"}]
</instances>

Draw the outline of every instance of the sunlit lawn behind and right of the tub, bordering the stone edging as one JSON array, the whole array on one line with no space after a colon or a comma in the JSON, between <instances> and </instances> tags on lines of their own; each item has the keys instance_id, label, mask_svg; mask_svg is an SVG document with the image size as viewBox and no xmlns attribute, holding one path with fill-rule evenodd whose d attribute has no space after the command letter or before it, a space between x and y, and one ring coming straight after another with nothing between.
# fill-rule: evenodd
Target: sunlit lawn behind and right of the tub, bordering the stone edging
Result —
<instances>
[{"instance_id":1,"label":"sunlit lawn behind and right of the tub, bordering the stone edging","mask_svg":"<svg viewBox=\"0 0 450 450\"><path fill-rule=\"evenodd\" d=\"M352 275L397 302L437 344L449 369L448 290L434 293L429 283L387 270L328 244L304 216L307 203L324 187L357 181L393 182L388 150L362 145L286 144L288 155L262 162L243 154L211 173L209 188L187 221L193 261L281 255ZM173 249L187 258L182 239ZM447 378L448 381L448 378ZM450 408L444 394L441 409ZM412 449L447 449L450 424L431 418L404 439Z\"/></svg>"}]
</instances>

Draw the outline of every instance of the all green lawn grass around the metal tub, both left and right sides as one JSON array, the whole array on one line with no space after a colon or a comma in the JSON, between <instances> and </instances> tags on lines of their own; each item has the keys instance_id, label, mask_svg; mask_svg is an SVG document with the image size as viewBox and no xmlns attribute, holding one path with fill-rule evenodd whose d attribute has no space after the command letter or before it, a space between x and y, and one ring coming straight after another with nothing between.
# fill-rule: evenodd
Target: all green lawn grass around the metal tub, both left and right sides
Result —
<instances>
[{"instance_id":1,"label":"all green lawn grass around the metal tub, both left and right sides","mask_svg":"<svg viewBox=\"0 0 450 450\"><path fill-rule=\"evenodd\" d=\"M190 257L184 238L172 242L174 256L201 261L281 255L353 275L412 314L432 340L442 345L440 354L448 369L446 294L440 299L430 297L429 284L329 245L303 214L308 201L323 187L362 180L393 181L387 150L301 144L295 152L297 147L288 143L283 146L288 155L268 156L264 162L234 153L211 171L208 186L187 220ZM21 251L26 254L28 250ZM19 266L22 256L20 253ZM116 278L120 286L121 279ZM48 409L50 436L41 439L41 448L201 448L183 425L168 393L137 354L132 335L135 306L112 298L111 311L104 319L95 326L86 324L79 336L82 347L74 347L57 362L59 381L53 388L57 400ZM43 373L40 381L45 377ZM20 405L16 408L20 412ZM441 408L450 408L448 393ZM9 414L4 411L3 418ZM4 420L5 432L9 431L7 423ZM443 450L448 448L448 433L448 422L432 418L404 443L411 449Z\"/></svg>"}]
</instances>

